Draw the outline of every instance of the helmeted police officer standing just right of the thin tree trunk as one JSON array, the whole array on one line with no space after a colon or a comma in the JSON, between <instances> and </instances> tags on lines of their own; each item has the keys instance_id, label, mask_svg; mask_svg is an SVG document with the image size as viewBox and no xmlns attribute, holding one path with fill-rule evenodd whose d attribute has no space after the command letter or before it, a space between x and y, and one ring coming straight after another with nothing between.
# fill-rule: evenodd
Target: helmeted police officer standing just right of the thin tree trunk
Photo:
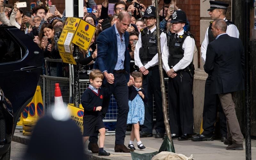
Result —
<instances>
[{"instance_id":1,"label":"helmeted police officer standing just right of the thin tree trunk","mask_svg":"<svg viewBox=\"0 0 256 160\"><path fill-rule=\"evenodd\" d=\"M169 123L172 138L190 140L193 133L193 76L192 64L195 40L184 32L187 17L184 11L174 11L172 33L163 49L163 68L169 76Z\"/></svg>"}]
</instances>

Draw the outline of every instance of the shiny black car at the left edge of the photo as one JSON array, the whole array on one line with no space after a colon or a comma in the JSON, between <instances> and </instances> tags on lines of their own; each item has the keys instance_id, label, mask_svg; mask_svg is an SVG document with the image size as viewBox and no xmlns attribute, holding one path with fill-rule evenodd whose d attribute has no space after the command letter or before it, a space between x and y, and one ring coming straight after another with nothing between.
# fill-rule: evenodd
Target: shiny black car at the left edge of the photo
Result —
<instances>
[{"instance_id":1,"label":"shiny black car at the left edge of the photo","mask_svg":"<svg viewBox=\"0 0 256 160\"><path fill-rule=\"evenodd\" d=\"M42 66L43 53L28 35L14 26L0 27L0 160L10 159L12 135Z\"/></svg>"}]
</instances>

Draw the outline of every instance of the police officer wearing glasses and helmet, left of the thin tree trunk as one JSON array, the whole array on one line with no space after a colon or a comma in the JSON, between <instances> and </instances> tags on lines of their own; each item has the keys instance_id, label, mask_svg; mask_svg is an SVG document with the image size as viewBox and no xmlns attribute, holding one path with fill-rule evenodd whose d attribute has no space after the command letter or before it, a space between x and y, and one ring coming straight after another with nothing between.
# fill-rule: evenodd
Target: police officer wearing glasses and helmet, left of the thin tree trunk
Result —
<instances>
[{"instance_id":1,"label":"police officer wearing glasses and helmet, left of the thin tree trunk","mask_svg":"<svg viewBox=\"0 0 256 160\"><path fill-rule=\"evenodd\" d=\"M143 88L148 93L148 103L145 103L145 120L140 137L152 137L153 128L153 97L156 106L156 136L163 138L165 133L162 93L158 69L158 54L156 42L156 8L148 6L144 14L147 27L140 30L139 40L134 51L135 65L143 74ZM166 43L166 34L161 33L161 48Z\"/></svg>"}]
</instances>

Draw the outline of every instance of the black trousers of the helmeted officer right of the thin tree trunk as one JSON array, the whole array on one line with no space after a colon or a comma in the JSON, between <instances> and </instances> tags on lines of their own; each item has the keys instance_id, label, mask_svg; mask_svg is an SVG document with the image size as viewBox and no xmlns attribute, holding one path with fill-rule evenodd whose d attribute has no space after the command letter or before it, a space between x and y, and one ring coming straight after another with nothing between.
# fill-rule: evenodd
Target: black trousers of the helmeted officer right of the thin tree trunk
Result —
<instances>
[{"instance_id":1,"label":"black trousers of the helmeted officer right of the thin tree trunk","mask_svg":"<svg viewBox=\"0 0 256 160\"><path fill-rule=\"evenodd\" d=\"M193 133L193 79L187 72L169 78L169 123L172 134Z\"/></svg>"}]
</instances>

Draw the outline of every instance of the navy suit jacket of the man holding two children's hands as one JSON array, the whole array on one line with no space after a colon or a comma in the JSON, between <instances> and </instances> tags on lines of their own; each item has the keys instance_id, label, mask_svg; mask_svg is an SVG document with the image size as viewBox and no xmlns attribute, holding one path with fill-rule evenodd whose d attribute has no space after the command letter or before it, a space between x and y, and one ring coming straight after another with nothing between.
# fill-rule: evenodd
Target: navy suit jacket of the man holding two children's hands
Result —
<instances>
[{"instance_id":1,"label":"navy suit jacket of the man holding two children's hands","mask_svg":"<svg viewBox=\"0 0 256 160\"><path fill-rule=\"evenodd\" d=\"M129 33L124 33L125 39L125 54L124 54L124 70L127 72L125 74L127 82L130 79L130 62L131 56L128 51L129 44ZM94 63L94 69L100 69L101 72L107 70L108 73L113 73L117 62L117 38L115 26L112 25L108 29L101 32L97 38L97 58ZM107 80L104 78L103 84L106 84Z\"/></svg>"}]
</instances>

